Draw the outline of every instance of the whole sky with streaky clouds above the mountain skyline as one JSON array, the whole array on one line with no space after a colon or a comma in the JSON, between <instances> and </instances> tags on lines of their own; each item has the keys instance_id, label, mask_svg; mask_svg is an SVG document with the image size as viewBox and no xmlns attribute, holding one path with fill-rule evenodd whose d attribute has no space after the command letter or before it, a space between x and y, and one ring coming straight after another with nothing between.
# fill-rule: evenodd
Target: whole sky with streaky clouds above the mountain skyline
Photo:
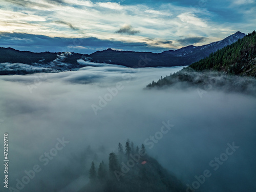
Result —
<instances>
[{"instance_id":1,"label":"whole sky with streaky clouds above the mountain skyline","mask_svg":"<svg viewBox=\"0 0 256 192\"><path fill-rule=\"evenodd\" d=\"M0 0L0 46L162 52L255 30L254 0Z\"/></svg>"}]
</instances>

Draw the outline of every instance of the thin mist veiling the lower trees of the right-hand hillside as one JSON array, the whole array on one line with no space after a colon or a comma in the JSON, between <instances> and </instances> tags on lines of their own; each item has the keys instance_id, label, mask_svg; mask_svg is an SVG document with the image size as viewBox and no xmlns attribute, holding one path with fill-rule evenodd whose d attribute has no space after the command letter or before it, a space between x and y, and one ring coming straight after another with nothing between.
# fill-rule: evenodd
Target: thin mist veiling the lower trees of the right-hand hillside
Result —
<instances>
[{"instance_id":1,"label":"thin mist veiling the lower trees of the right-hand hillside","mask_svg":"<svg viewBox=\"0 0 256 192\"><path fill-rule=\"evenodd\" d=\"M256 80L252 77L242 77L238 75L226 75L221 72L204 71L197 72L192 68L186 68L172 76L164 77L152 83L148 88L177 88L181 90L197 88L200 94L209 90L221 90L226 93L243 93L256 96Z\"/></svg>"}]
</instances>

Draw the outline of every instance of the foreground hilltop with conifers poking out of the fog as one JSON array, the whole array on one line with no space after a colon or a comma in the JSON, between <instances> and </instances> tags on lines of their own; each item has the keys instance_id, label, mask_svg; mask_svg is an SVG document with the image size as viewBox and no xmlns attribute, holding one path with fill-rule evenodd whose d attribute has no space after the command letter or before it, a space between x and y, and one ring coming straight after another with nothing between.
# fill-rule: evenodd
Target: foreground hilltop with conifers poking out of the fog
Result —
<instances>
[{"instance_id":1,"label":"foreground hilltop with conifers poking out of the fog","mask_svg":"<svg viewBox=\"0 0 256 192\"><path fill-rule=\"evenodd\" d=\"M110 153L109 163L92 162L90 182L80 192L180 192L186 191L175 176L169 174L156 159L146 154L145 146L135 148L129 140L125 150L121 143L118 152Z\"/></svg>"}]
</instances>

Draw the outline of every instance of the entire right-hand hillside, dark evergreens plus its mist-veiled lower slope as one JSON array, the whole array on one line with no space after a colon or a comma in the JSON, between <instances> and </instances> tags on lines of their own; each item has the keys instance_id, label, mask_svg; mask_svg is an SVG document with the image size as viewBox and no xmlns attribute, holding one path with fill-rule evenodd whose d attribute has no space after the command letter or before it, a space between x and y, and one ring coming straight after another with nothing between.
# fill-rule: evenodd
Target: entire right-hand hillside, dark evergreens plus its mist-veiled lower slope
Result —
<instances>
[{"instance_id":1,"label":"entire right-hand hillside, dark evergreens plus its mist-veiled lower slope","mask_svg":"<svg viewBox=\"0 0 256 192\"><path fill-rule=\"evenodd\" d=\"M253 31L189 67L153 81L147 88L196 86L205 90L208 86L256 95L255 77L256 33Z\"/></svg>"}]
</instances>

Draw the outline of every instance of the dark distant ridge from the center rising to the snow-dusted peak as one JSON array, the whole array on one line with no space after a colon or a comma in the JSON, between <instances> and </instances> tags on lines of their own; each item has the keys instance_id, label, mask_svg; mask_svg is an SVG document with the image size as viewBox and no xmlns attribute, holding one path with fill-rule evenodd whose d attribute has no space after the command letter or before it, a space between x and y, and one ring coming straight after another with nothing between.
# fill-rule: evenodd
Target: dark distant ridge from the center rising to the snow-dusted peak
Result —
<instances>
[{"instance_id":1,"label":"dark distant ridge from the center rising to the snow-dusted peak","mask_svg":"<svg viewBox=\"0 0 256 192\"><path fill-rule=\"evenodd\" d=\"M169 50L162 53L151 52L133 52L133 51L114 51L112 49L97 51L89 57L96 62L104 62L110 64L119 64L126 67L137 67L143 57L146 57L145 67L172 67L172 66L188 66L193 62L209 56L210 53L216 52L227 45L231 45L239 38L243 38L244 33L236 32L225 39L211 44L196 47L187 46L178 50ZM143 60L143 59L142 59ZM143 65L143 64L141 64Z\"/></svg>"}]
</instances>

